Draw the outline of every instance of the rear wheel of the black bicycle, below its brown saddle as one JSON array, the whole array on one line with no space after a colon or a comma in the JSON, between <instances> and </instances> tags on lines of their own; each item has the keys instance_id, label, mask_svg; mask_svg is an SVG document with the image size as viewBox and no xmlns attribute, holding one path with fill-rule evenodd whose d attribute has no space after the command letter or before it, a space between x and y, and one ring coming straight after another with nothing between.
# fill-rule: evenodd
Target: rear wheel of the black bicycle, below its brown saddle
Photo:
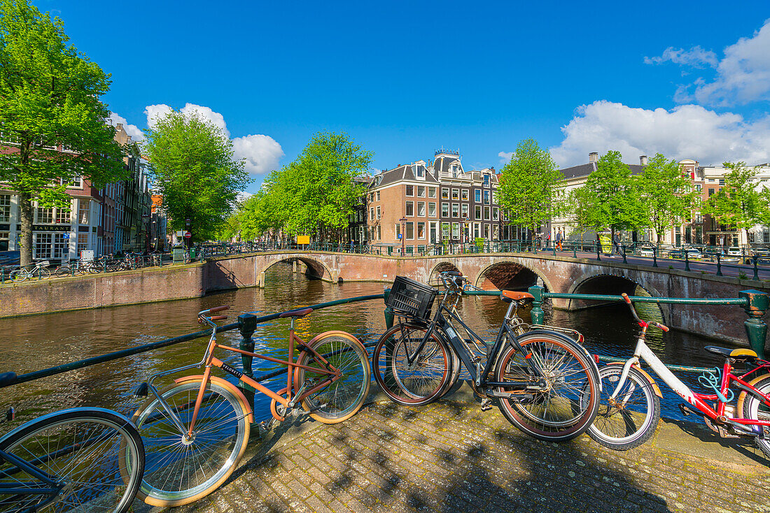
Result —
<instances>
[{"instance_id":1,"label":"rear wheel of the black bicycle, below its brown saddle","mask_svg":"<svg viewBox=\"0 0 770 513\"><path fill-rule=\"evenodd\" d=\"M517 388L521 399L500 398L500 411L511 424L541 440L570 440L581 435L599 404L599 377L583 350L568 338L556 334L534 333L518 338L524 351L509 345L497 360L495 378L511 381L517 387L498 388L511 392ZM537 385L529 361L537 361L544 371L545 387Z\"/></svg>"}]
</instances>

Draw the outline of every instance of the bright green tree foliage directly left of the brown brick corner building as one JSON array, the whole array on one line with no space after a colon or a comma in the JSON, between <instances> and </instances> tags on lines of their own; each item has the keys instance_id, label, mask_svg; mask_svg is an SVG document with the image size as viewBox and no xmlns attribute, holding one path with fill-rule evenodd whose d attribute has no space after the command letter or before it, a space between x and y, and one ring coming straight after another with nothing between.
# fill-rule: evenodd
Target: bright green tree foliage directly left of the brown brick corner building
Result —
<instances>
[{"instance_id":1,"label":"bright green tree foliage directly left of the brown brick corner building","mask_svg":"<svg viewBox=\"0 0 770 513\"><path fill-rule=\"evenodd\" d=\"M373 159L350 136L319 132L289 165L268 175L240 213L244 238L267 232L339 239L366 192L355 178Z\"/></svg>"}]
</instances>

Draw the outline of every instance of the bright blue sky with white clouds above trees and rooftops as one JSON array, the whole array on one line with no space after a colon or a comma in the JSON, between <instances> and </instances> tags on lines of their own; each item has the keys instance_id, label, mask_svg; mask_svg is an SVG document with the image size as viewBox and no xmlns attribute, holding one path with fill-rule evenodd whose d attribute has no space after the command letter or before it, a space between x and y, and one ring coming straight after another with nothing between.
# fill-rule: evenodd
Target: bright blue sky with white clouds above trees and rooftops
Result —
<instances>
[{"instance_id":1,"label":"bright blue sky with white clouds above trees and rooftops","mask_svg":"<svg viewBox=\"0 0 770 513\"><path fill-rule=\"evenodd\" d=\"M113 121L138 135L148 114L199 112L247 159L251 192L320 130L376 169L442 145L501 168L528 137L563 166L609 149L770 160L768 2L35 5L112 74Z\"/></svg>"}]
</instances>

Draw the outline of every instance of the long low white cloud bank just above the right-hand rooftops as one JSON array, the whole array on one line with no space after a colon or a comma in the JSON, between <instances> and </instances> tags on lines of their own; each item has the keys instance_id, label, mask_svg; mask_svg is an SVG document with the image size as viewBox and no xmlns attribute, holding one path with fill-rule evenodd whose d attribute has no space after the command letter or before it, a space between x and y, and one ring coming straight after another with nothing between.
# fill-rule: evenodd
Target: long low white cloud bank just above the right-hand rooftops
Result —
<instances>
[{"instance_id":1,"label":"long low white cloud bank just above the right-hand rooftops","mask_svg":"<svg viewBox=\"0 0 770 513\"><path fill-rule=\"evenodd\" d=\"M725 161L759 164L770 161L770 115L747 122L741 115L700 105L648 110L602 100L577 108L564 127L564 141L551 148L557 165L588 162L589 152L618 150L624 162L639 155L662 153L668 158L693 158L704 165Z\"/></svg>"}]
</instances>

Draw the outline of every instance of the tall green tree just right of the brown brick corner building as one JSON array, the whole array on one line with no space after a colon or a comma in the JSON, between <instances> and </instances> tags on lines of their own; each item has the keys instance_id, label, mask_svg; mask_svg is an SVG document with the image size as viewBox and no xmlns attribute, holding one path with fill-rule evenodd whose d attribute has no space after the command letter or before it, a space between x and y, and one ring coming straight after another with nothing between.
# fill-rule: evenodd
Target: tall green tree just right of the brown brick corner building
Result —
<instances>
[{"instance_id":1,"label":"tall green tree just right of the brown brick corner building","mask_svg":"<svg viewBox=\"0 0 770 513\"><path fill-rule=\"evenodd\" d=\"M519 142L511 162L503 168L497 188L509 222L535 232L542 222L559 214L556 188L562 180L564 175L547 150L534 139Z\"/></svg>"}]
</instances>

